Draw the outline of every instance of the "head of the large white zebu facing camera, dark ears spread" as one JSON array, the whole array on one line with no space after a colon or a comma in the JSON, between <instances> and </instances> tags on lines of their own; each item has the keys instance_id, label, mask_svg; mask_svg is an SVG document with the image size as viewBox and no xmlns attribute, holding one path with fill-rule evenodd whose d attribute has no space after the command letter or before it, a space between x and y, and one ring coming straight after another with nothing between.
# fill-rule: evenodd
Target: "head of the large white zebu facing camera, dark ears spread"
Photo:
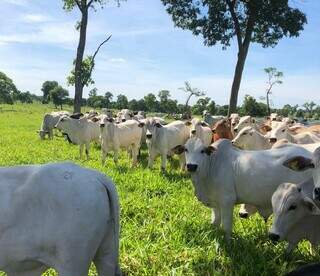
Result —
<instances>
[{"instance_id":1,"label":"head of the large white zebu facing camera, dark ears spread","mask_svg":"<svg viewBox=\"0 0 320 276\"><path fill-rule=\"evenodd\" d=\"M205 146L199 138L190 138L185 145L176 146L173 151L176 154L186 154L187 170L195 173L199 170L204 159L214 154L216 148L213 146Z\"/></svg>"}]
</instances>

